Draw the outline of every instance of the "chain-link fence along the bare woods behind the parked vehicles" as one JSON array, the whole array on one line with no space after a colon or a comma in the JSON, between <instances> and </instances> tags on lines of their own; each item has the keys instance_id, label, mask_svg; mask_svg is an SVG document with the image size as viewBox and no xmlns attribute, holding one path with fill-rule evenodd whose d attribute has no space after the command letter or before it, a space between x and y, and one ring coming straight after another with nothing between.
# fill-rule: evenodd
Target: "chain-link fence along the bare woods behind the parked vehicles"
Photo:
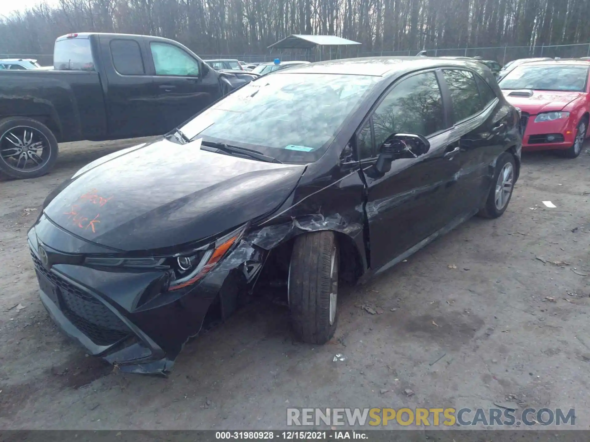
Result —
<instances>
[{"instance_id":1,"label":"chain-link fence along the bare woods behind the parked vehicles","mask_svg":"<svg viewBox=\"0 0 590 442\"><path fill-rule=\"evenodd\" d=\"M481 57L484 60L495 60L501 65L517 58L550 57L550 58L579 58L590 57L590 43L572 45L540 45L540 46L498 46L489 48L453 48L453 49L426 49L429 57ZM281 61L320 61L344 57L399 57L416 55L418 51L343 51L340 55L337 51L324 51L314 53L284 52L281 54L202 54L203 60L218 60L229 58L245 63L268 62L279 58ZM0 54L0 58L34 58L39 64L47 66L53 64L51 54Z\"/></svg>"}]
</instances>

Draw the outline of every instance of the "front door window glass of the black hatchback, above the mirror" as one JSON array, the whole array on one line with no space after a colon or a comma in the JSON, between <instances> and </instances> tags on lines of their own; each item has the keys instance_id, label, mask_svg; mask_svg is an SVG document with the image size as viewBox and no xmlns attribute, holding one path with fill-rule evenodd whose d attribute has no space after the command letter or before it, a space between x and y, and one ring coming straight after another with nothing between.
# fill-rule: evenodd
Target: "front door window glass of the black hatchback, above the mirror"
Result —
<instances>
[{"instance_id":1,"label":"front door window glass of the black hatchback, above the mirror","mask_svg":"<svg viewBox=\"0 0 590 442\"><path fill-rule=\"evenodd\" d=\"M442 96L434 72L412 75L400 81L373 114L377 149L393 133L427 137L444 128Z\"/></svg>"}]
</instances>

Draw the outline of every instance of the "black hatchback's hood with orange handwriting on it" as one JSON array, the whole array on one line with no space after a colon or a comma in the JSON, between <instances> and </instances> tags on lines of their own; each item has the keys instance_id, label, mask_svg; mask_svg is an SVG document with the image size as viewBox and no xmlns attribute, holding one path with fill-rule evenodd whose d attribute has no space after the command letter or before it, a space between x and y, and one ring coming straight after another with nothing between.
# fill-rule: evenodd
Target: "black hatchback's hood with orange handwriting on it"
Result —
<instances>
[{"instance_id":1,"label":"black hatchback's hood with orange handwriting on it","mask_svg":"<svg viewBox=\"0 0 590 442\"><path fill-rule=\"evenodd\" d=\"M163 139L99 162L58 193L44 214L68 232L110 248L168 248L272 212L305 169L199 146Z\"/></svg>"}]
</instances>

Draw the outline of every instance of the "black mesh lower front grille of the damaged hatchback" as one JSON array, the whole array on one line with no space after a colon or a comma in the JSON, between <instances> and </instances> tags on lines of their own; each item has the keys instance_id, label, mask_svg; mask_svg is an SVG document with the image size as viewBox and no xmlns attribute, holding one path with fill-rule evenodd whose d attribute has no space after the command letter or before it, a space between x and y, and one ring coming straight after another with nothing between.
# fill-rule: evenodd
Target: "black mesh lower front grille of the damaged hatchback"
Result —
<instances>
[{"instance_id":1,"label":"black mesh lower front grille of the damaged hatchback","mask_svg":"<svg viewBox=\"0 0 590 442\"><path fill-rule=\"evenodd\" d=\"M35 268L60 289L60 308L63 314L94 344L112 345L131 334L123 321L106 305L90 293L45 269L34 253L31 252L31 256Z\"/></svg>"}]
</instances>

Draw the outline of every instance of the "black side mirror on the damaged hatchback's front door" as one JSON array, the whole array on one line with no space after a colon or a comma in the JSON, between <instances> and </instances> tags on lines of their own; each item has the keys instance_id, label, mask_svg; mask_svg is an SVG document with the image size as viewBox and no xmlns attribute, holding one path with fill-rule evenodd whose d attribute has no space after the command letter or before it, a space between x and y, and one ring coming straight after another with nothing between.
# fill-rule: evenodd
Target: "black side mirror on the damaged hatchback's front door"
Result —
<instances>
[{"instance_id":1,"label":"black side mirror on the damaged hatchback's front door","mask_svg":"<svg viewBox=\"0 0 590 442\"><path fill-rule=\"evenodd\" d=\"M379 147L375 170L383 176L391 170L391 163L401 158L417 158L430 150L430 143L418 134L391 134Z\"/></svg>"}]
</instances>

